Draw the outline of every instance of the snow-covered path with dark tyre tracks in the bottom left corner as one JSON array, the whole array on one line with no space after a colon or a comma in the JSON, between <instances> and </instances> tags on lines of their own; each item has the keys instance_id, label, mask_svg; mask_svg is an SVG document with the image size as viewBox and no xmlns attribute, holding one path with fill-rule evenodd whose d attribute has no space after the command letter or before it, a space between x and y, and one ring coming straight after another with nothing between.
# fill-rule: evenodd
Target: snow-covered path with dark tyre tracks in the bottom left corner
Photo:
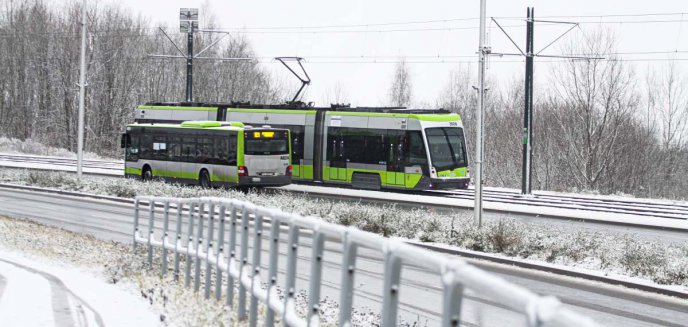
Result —
<instances>
[{"instance_id":1,"label":"snow-covered path with dark tyre tracks in the bottom left corner","mask_svg":"<svg viewBox=\"0 0 688 327\"><path fill-rule=\"evenodd\" d=\"M159 319L133 292L88 272L0 249L3 327L156 326Z\"/></svg>"}]
</instances>

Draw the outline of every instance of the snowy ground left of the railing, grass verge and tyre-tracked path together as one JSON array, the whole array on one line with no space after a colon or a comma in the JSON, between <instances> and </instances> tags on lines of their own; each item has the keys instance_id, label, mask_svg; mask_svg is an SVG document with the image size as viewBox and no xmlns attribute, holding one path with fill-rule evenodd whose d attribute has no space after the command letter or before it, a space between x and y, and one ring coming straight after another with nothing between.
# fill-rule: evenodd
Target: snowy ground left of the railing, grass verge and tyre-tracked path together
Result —
<instances>
[{"instance_id":1,"label":"snowy ground left of the railing, grass verge and tyre-tracked path together","mask_svg":"<svg viewBox=\"0 0 688 327\"><path fill-rule=\"evenodd\" d=\"M223 303L161 279L142 262L129 246L0 217L0 325L74 319L98 326L98 315L104 326L233 325Z\"/></svg>"}]
</instances>

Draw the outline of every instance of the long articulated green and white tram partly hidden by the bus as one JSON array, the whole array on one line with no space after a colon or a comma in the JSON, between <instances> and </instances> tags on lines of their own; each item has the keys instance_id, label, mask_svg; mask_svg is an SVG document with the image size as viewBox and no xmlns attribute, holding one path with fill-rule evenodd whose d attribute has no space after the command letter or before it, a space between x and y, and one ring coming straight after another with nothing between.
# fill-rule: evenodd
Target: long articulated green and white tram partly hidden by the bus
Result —
<instances>
[{"instance_id":1,"label":"long articulated green and white tram partly hidden by the bus","mask_svg":"<svg viewBox=\"0 0 688 327\"><path fill-rule=\"evenodd\" d=\"M461 117L442 109L151 103L136 113L139 122L189 118L289 129L294 181L402 190L470 182Z\"/></svg>"}]
</instances>

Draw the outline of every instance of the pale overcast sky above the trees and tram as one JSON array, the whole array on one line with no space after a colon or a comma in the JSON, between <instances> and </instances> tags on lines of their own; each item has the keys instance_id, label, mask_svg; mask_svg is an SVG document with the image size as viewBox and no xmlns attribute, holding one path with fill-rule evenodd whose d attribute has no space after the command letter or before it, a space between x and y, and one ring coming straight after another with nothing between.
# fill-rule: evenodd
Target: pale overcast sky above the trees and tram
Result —
<instances>
[{"instance_id":1,"label":"pale overcast sky above the trees and tram","mask_svg":"<svg viewBox=\"0 0 688 327\"><path fill-rule=\"evenodd\" d=\"M60 0L55 0L60 1ZM89 0L92 1L92 0ZM113 1L114 2L114 1ZM132 13L153 22L178 24L179 8L198 7L201 19L209 12L215 22L233 35L245 34L264 67L280 78L285 70L269 58L301 56L313 82L304 101L328 105L339 87L354 105L385 105L395 62L405 57L413 83L416 106L434 106L445 88L449 72L460 65L477 69L479 0L120 0ZM525 43L526 7L535 7L536 19L581 22L543 54L559 54L572 37L585 37L604 26L618 39L618 52L636 67L644 80L648 67L661 68L669 58L688 58L688 53L637 52L688 51L688 1L685 0L487 0L487 16L497 21L522 48ZM667 15L678 13L676 15ZM618 16L624 15L624 16ZM643 16L627 16L643 15ZM558 17L553 17L558 16ZM562 17L563 16L563 17ZM602 22L602 24L600 24ZM488 22L493 52L518 50ZM203 26L201 26L203 28ZM567 25L536 25L538 51L568 28ZM650 59L650 60L647 60ZM499 85L523 77L518 57L493 58L488 77ZM538 60L538 59L536 59ZM514 62L516 61L516 62ZM537 84L548 81L553 65L536 61ZM685 72L685 62L676 61ZM180 81L183 83L183 81ZM228 99L229 100L229 99Z\"/></svg>"}]
</instances>

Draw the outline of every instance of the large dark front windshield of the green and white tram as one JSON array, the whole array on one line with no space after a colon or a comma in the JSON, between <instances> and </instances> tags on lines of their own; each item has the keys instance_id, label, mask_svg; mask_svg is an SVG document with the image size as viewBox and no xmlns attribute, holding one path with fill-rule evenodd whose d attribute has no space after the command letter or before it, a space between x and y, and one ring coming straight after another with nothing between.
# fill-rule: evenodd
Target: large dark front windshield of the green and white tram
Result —
<instances>
[{"instance_id":1,"label":"large dark front windshield of the green and white tram","mask_svg":"<svg viewBox=\"0 0 688 327\"><path fill-rule=\"evenodd\" d=\"M466 145L461 128L428 128L425 135L428 138L430 159L437 171L466 167Z\"/></svg>"}]
</instances>

